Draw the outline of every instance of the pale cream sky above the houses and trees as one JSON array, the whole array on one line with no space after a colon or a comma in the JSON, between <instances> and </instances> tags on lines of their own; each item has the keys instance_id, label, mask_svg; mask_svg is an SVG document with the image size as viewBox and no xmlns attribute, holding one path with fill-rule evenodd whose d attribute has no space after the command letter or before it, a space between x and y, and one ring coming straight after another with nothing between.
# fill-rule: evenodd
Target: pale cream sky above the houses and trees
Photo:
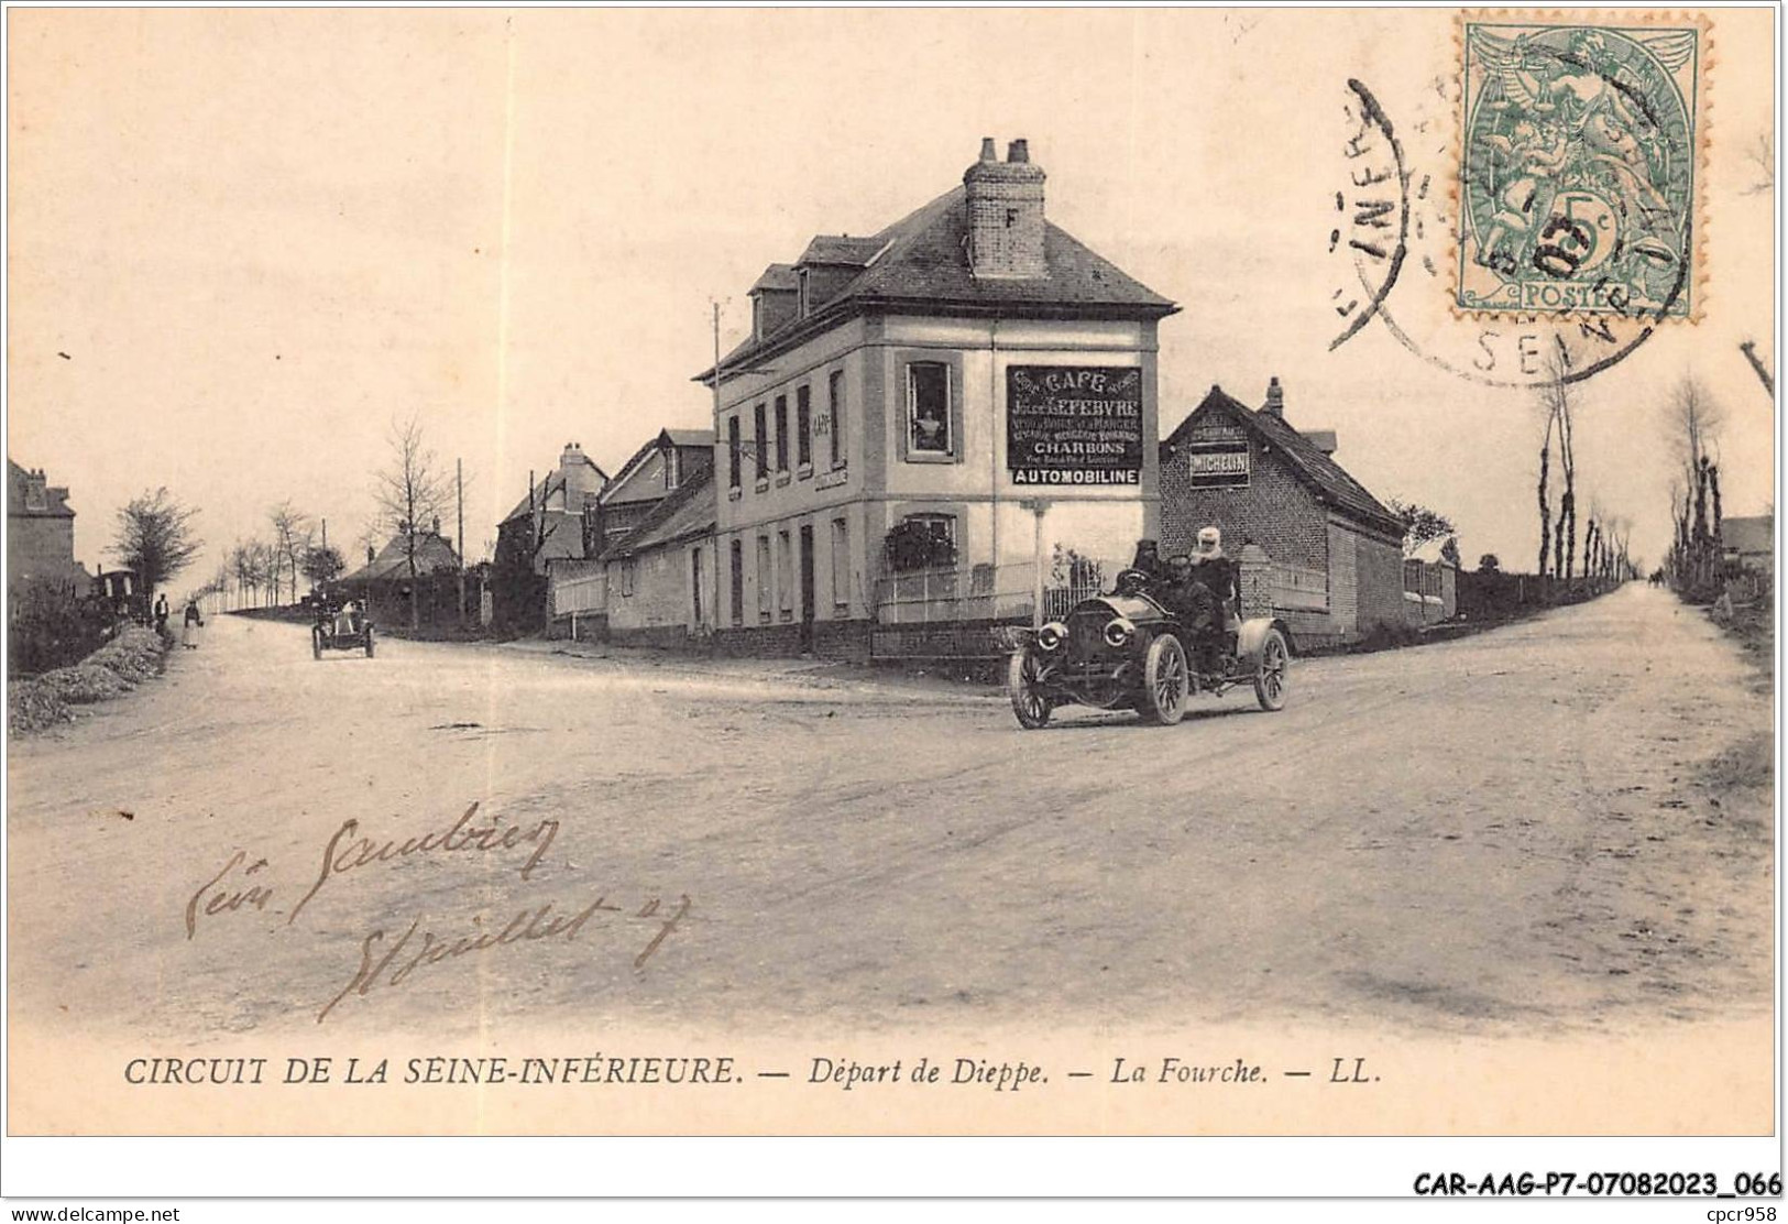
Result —
<instances>
[{"instance_id":1,"label":"pale cream sky above the houses and trees","mask_svg":"<svg viewBox=\"0 0 1788 1224\"><path fill-rule=\"evenodd\" d=\"M1450 515L1468 564L1532 567L1532 392L1436 369L1377 322L1328 349L1346 82L1446 181L1446 11L7 20L7 451L70 487L89 567L159 485L200 512L193 583L286 499L352 548L409 417L465 465L476 560L567 442L615 471L662 426L710 426L690 378L712 304L730 349L767 263L949 190L982 136L1026 138L1048 217L1180 302L1162 433L1210 385L1259 404L1278 376L1287 419L1336 429L1380 499ZM1774 497L1774 412L1738 349L1774 370L1772 21L1713 18L1700 319L1577 388L1579 499L1631 519L1650 560L1684 376L1725 415L1727 514ZM1387 304L1418 347L1472 353L1441 281L1411 272Z\"/></svg>"}]
</instances>

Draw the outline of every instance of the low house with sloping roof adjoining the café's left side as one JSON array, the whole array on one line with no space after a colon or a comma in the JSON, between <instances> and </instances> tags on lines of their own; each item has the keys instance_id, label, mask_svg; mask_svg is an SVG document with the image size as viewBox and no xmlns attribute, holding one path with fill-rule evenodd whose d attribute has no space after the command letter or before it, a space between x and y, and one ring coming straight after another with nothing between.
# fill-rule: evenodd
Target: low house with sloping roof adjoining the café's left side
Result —
<instances>
[{"instance_id":1,"label":"low house with sloping roof adjoining the caf\u00e9's left side","mask_svg":"<svg viewBox=\"0 0 1788 1224\"><path fill-rule=\"evenodd\" d=\"M603 553L608 641L687 646L713 633L713 467L699 469Z\"/></svg>"}]
</instances>

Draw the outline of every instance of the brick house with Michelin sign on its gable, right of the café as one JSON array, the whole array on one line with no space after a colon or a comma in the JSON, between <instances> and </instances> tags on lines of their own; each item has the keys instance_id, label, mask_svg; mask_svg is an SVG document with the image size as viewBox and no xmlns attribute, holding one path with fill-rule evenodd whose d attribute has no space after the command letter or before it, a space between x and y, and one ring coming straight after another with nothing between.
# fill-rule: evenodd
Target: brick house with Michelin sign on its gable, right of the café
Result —
<instances>
[{"instance_id":1,"label":"brick house with Michelin sign on its gable, right of the caf\u00e9","mask_svg":"<svg viewBox=\"0 0 1788 1224\"><path fill-rule=\"evenodd\" d=\"M1332 431L1286 421L1277 378L1259 410L1212 387L1160 444L1160 555L1193 551L1203 526L1223 531L1232 557L1262 548L1273 610L1298 648L1407 623L1404 524L1334 451Z\"/></svg>"}]
</instances>

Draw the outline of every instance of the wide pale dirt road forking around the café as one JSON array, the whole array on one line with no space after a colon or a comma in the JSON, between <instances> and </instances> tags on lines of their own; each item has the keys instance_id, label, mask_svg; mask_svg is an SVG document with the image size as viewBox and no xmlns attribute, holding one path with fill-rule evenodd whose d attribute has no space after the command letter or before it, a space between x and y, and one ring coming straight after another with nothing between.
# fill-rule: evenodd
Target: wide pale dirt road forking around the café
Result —
<instances>
[{"instance_id":1,"label":"wide pale dirt road forking around the caf\u00e9","mask_svg":"<svg viewBox=\"0 0 1788 1224\"><path fill-rule=\"evenodd\" d=\"M1175 728L1021 732L983 693L824 675L313 662L218 617L13 744L13 1018L1534 1033L1770 1004L1770 795L1702 780L1767 750L1768 703L1663 592L1311 660L1284 712Z\"/></svg>"}]
</instances>

